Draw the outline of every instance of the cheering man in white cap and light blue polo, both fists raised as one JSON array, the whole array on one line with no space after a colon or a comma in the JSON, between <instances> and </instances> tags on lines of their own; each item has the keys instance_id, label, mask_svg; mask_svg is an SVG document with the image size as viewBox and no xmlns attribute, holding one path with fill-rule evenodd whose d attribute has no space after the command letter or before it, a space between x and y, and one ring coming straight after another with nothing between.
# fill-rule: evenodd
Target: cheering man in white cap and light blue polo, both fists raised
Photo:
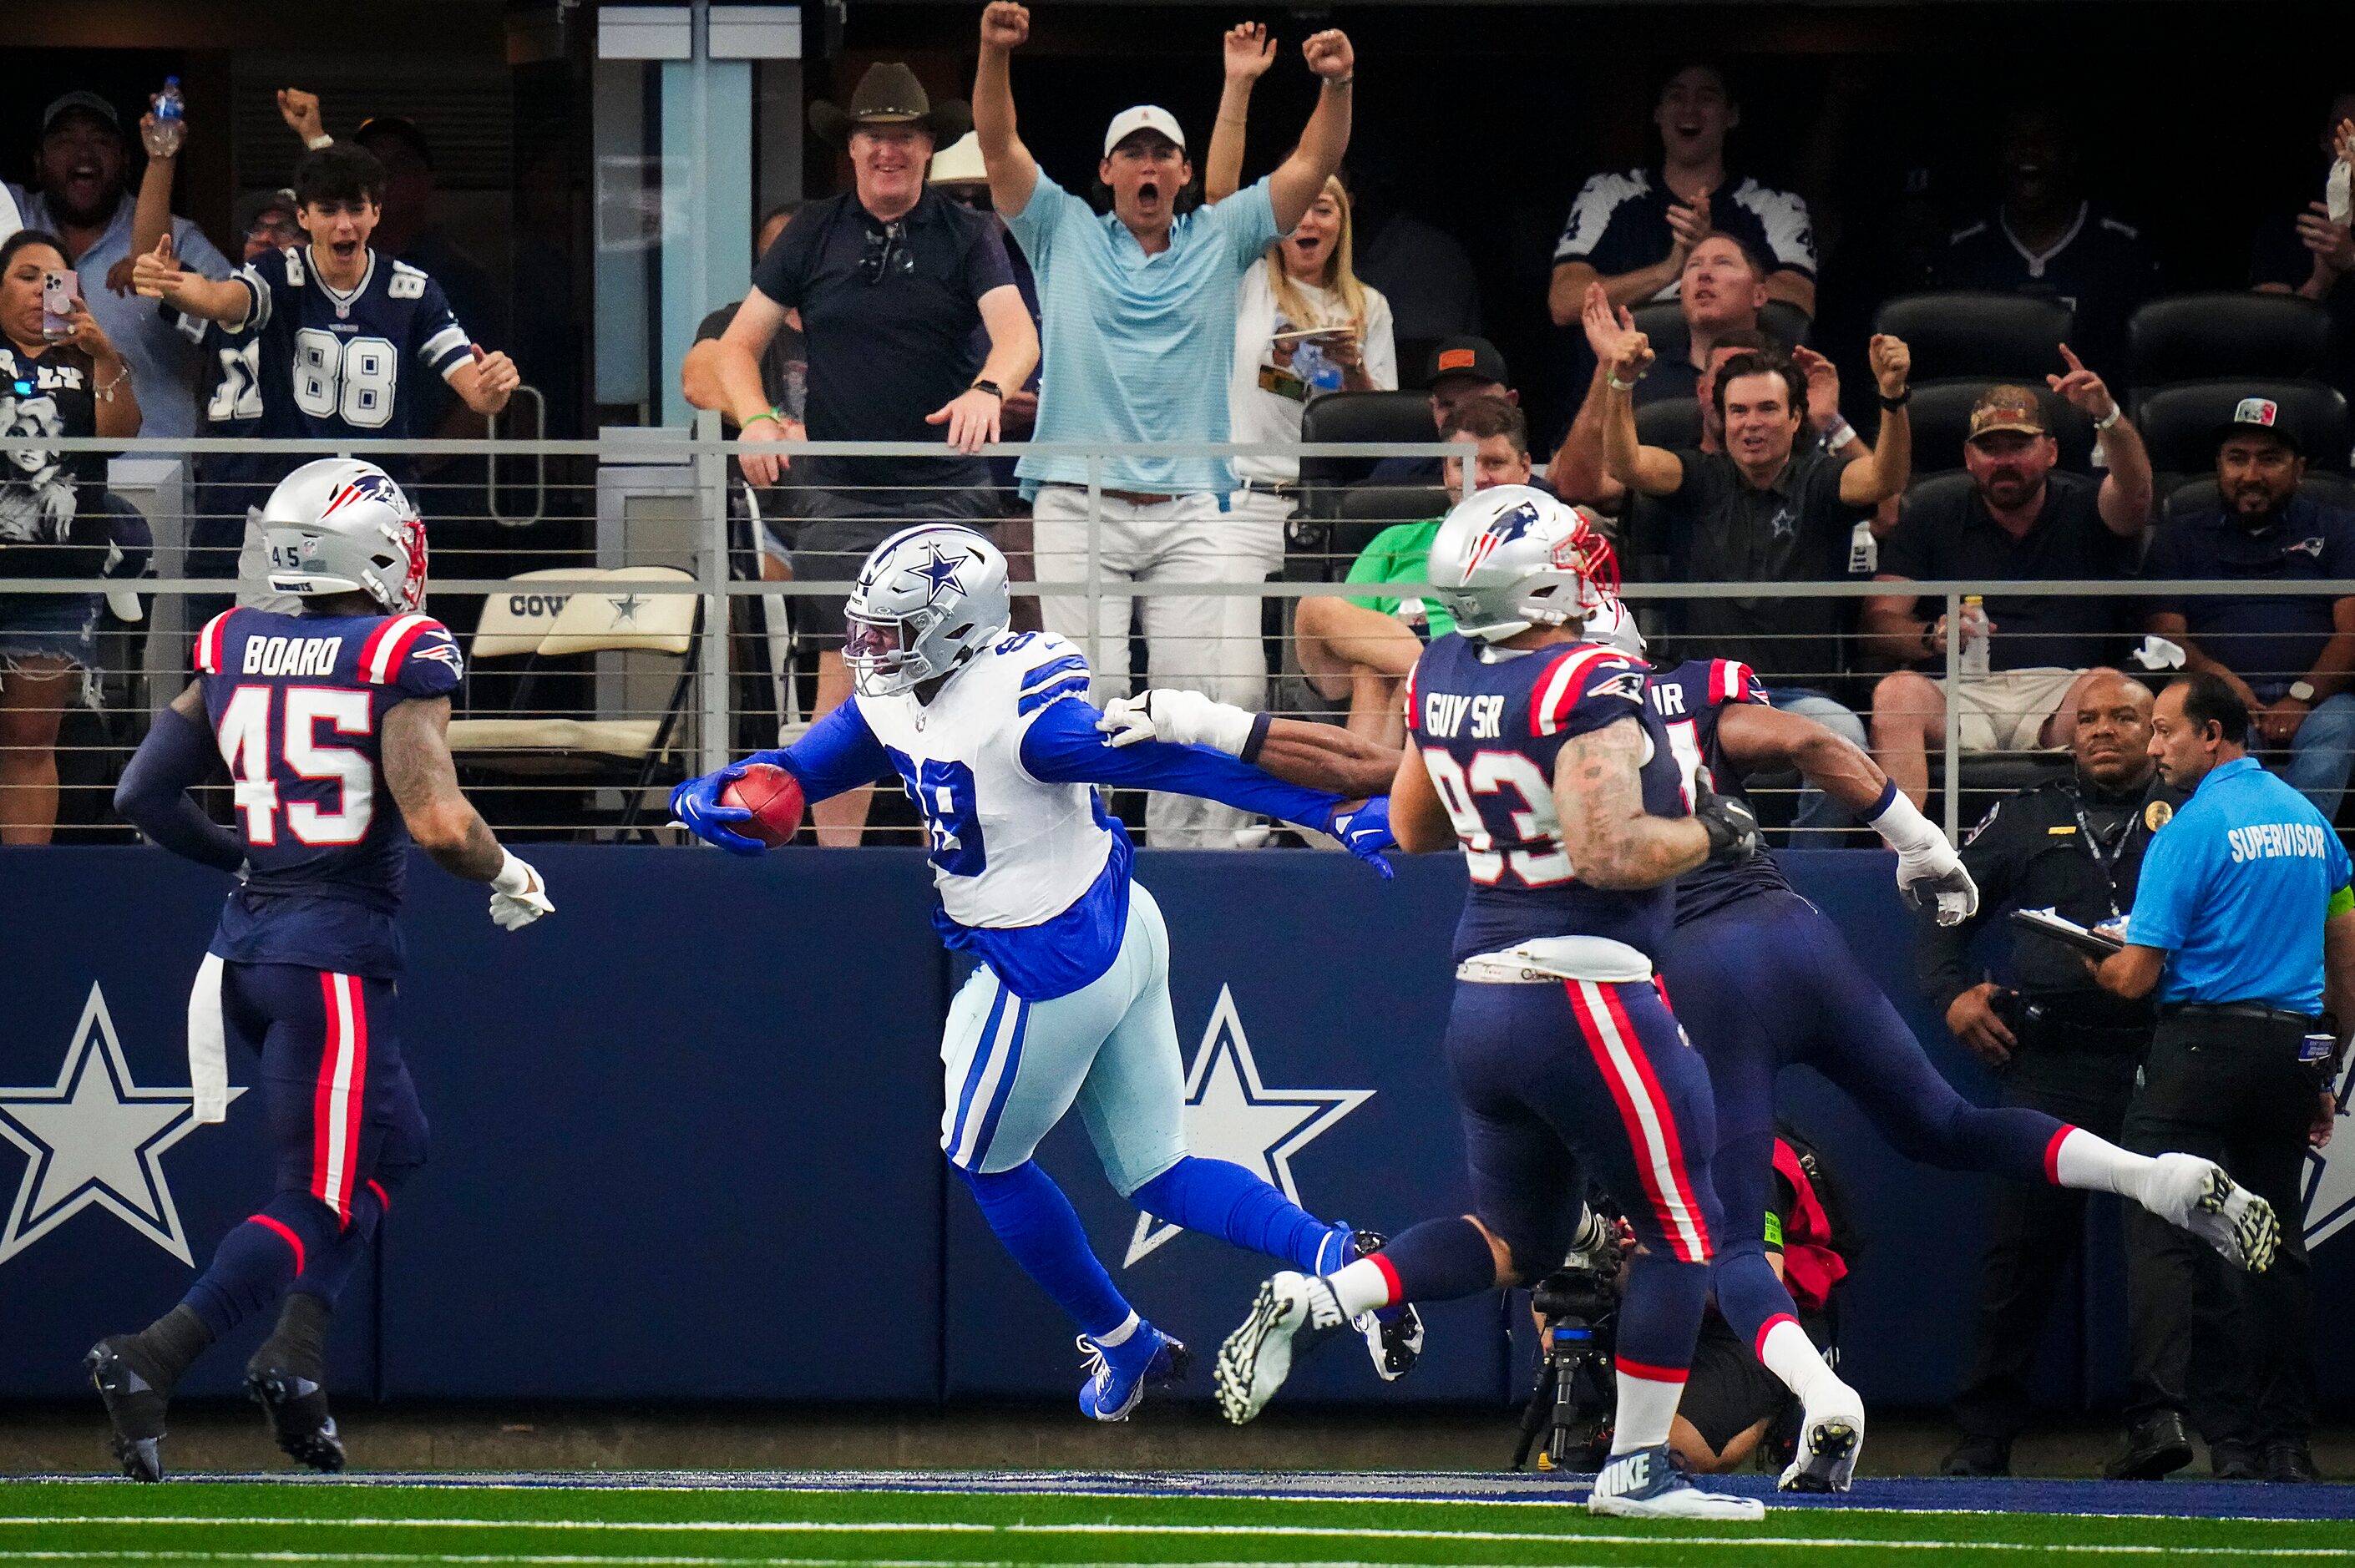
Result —
<instances>
[{"instance_id":1,"label":"cheering man in white cap and light blue polo, both fists raised","mask_svg":"<svg viewBox=\"0 0 2355 1568\"><path fill-rule=\"evenodd\" d=\"M1331 31L1302 45L1321 89L1293 155L1260 184L1194 212L1178 212L1194 165L1175 115L1149 104L1114 115L1095 170L1112 188L1112 212L1097 214L1041 174L1015 134L1008 54L1024 38L1027 7L999 0L982 12L973 127L989 170L989 198L1039 280L1046 358L1031 438L1227 440L1234 294L1253 261L1291 233L1340 167L1356 64L1349 40ZM1234 490L1234 466L1225 457L1104 459L1093 504L1088 459L1024 457L1015 473L1031 501L1039 582L1095 577L1109 589L1095 622L1076 593L1041 598L1046 629L1086 647L1100 697L1128 690L1126 584L1236 582L1265 570L1225 516ZM1145 596L1154 683L1248 699L1248 692L1220 690L1222 624L1218 598ZM1215 803L1154 796L1145 822L1156 845L1234 845L1239 815Z\"/></svg>"}]
</instances>

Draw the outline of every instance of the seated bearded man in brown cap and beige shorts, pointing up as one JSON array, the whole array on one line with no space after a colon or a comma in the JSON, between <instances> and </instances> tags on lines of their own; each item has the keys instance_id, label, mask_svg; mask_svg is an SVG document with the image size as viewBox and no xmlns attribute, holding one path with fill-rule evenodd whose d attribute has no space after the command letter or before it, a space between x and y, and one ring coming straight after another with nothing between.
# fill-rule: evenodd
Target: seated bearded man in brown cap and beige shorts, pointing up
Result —
<instances>
[{"instance_id":1,"label":"seated bearded man in brown cap and beige shorts, pointing up","mask_svg":"<svg viewBox=\"0 0 2355 1568\"><path fill-rule=\"evenodd\" d=\"M2025 386L1990 386L1971 410L1962 461L1969 490L1941 485L1908 499L1882 539L1879 582L2087 582L2127 577L2150 527L2150 454L2101 377L2068 358L2056 393L2101 426L2110 476L2096 485L2056 473L2061 445L2044 403ZM1964 751L2068 746L2087 678L2117 657L2115 598L2021 593L1985 605L1988 673L1964 676ZM1924 614L1926 610L1926 614ZM1900 666L1945 669L1945 614L1912 593L1865 600L1865 647ZM1872 760L1922 805L1929 746L1945 737L1945 678L1898 669L1872 687Z\"/></svg>"}]
</instances>

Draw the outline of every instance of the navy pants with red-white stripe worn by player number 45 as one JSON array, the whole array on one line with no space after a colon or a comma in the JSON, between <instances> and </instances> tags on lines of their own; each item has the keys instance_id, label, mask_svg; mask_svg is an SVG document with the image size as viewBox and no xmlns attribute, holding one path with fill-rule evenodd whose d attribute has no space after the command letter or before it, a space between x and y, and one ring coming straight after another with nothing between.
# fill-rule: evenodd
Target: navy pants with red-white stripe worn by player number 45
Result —
<instances>
[{"instance_id":1,"label":"navy pants with red-white stripe worn by player number 45","mask_svg":"<svg viewBox=\"0 0 2355 1568\"><path fill-rule=\"evenodd\" d=\"M226 963L221 1026L261 1057L278 1191L221 1238L186 1295L214 1337L290 1288L334 1304L391 1194L426 1158L393 982Z\"/></svg>"}]
</instances>

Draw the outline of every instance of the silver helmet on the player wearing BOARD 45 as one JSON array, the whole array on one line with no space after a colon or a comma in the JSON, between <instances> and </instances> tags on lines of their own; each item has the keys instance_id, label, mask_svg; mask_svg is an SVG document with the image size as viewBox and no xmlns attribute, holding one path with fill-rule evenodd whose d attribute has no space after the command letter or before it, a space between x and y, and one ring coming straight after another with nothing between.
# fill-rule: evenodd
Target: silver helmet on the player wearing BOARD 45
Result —
<instances>
[{"instance_id":1,"label":"silver helmet on the player wearing BOARD 45","mask_svg":"<svg viewBox=\"0 0 2355 1568\"><path fill-rule=\"evenodd\" d=\"M426 603L426 525L377 464L323 457L278 483L261 506L271 591L365 593L386 614Z\"/></svg>"}]
</instances>

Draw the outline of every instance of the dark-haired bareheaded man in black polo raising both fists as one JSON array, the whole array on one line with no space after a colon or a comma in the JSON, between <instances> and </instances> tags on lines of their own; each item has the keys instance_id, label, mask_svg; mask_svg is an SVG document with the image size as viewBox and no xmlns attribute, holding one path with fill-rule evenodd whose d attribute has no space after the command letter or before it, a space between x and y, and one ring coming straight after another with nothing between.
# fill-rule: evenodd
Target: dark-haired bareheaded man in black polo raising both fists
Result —
<instances>
[{"instance_id":1,"label":"dark-haired bareheaded man in black polo raising both fists","mask_svg":"<svg viewBox=\"0 0 2355 1568\"><path fill-rule=\"evenodd\" d=\"M1651 370L1651 341L1623 327L1604 356L1604 466L1630 490L1663 501L1670 560L1684 582L1835 582L1849 574L1849 544L1872 509L1905 490L1912 424L1905 377L1912 351L1875 337L1872 379L1882 428L1870 457L1842 461L1797 450L1806 426L1806 374L1780 356L1738 353L1717 372L1710 400L1724 450L1646 447L1634 433L1634 384ZM1778 709L1790 709L1865 744L1856 713L1820 685L1839 673L1842 600L1759 593L1689 598L1679 607L1679 659L1740 659ZM1799 826L1839 826L1827 798L1802 800Z\"/></svg>"}]
</instances>

